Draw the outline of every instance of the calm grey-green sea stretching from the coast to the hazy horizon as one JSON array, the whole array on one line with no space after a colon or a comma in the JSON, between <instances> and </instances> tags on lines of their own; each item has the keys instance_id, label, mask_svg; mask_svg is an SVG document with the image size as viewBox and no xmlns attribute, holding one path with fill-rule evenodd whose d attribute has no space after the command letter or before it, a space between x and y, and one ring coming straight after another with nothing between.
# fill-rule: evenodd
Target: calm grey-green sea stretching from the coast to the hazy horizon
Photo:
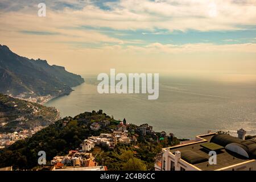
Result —
<instances>
[{"instance_id":1,"label":"calm grey-green sea stretching from the coast to the hazy horizon","mask_svg":"<svg viewBox=\"0 0 256 182\"><path fill-rule=\"evenodd\" d=\"M98 94L95 77L86 77L69 96L49 101L61 117L102 109L115 119L134 124L148 123L155 131L194 138L208 130L237 129L256 134L256 84L213 82L160 77L158 100L146 94Z\"/></svg>"}]
</instances>

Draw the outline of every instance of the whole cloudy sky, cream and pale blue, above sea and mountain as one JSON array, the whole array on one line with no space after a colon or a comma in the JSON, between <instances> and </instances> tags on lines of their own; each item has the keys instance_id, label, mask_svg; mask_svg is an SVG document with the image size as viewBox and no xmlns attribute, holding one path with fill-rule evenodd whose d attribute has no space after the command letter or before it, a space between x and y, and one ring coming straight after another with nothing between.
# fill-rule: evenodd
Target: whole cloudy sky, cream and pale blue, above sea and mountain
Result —
<instances>
[{"instance_id":1,"label":"whole cloudy sky, cream and pale blue, above sea and mountain","mask_svg":"<svg viewBox=\"0 0 256 182\"><path fill-rule=\"evenodd\" d=\"M0 23L0 44L77 74L256 80L256 0L0 0Z\"/></svg>"}]
</instances>

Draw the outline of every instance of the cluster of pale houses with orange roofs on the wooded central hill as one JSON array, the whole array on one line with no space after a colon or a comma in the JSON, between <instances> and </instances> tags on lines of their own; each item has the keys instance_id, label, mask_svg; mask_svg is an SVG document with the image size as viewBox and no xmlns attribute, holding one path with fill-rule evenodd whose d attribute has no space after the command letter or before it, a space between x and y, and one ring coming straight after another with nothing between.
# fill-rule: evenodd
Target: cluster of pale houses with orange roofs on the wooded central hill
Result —
<instances>
[{"instance_id":1,"label":"cluster of pale houses with orange roofs on the wooded central hill","mask_svg":"<svg viewBox=\"0 0 256 182\"><path fill-rule=\"evenodd\" d=\"M98 113L102 114L102 110L98 111ZM62 126L67 127L71 121L71 117L64 118ZM152 143L160 143L163 142L163 140L173 140L174 138L174 134L167 135L164 131L155 133L153 127L147 123L136 126L127 123L126 119L123 119L122 122L116 122L116 125L112 125L108 119L93 121L90 122L89 128L96 133L100 131L99 135L92 135L84 139L79 148L69 151L66 155L53 157L50 164L43 165L37 170L105 171L109 168L109 163L104 161L103 157L100 157L102 150L114 151L119 150L122 146L125 148L130 147L132 148L131 158L133 158L133 156L139 155L138 153L139 150L141 150L142 143L138 142L138 140L142 138ZM102 131L104 131L104 133L102 133ZM146 147L146 145L144 144L143 147ZM129 153L128 150L125 152L127 152L127 154ZM155 154L156 152L152 155L151 164L154 164ZM112 167L110 167L110 169L112 169Z\"/></svg>"}]
</instances>

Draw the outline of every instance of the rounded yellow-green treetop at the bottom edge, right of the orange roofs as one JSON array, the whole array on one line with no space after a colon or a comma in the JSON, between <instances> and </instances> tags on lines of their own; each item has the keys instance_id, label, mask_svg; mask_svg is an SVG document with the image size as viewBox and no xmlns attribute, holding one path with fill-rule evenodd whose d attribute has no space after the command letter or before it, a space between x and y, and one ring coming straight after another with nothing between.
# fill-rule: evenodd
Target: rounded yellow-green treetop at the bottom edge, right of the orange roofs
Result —
<instances>
[{"instance_id":1,"label":"rounded yellow-green treetop at the bottom edge, right of the orange roofs","mask_svg":"<svg viewBox=\"0 0 256 182\"><path fill-rule=\"evenodd\" d=\"M124 171L146 171L147 167L142 162L142 160L137 158L129 159L125 164L123 164Z\"/></svg>"}]
</instances>

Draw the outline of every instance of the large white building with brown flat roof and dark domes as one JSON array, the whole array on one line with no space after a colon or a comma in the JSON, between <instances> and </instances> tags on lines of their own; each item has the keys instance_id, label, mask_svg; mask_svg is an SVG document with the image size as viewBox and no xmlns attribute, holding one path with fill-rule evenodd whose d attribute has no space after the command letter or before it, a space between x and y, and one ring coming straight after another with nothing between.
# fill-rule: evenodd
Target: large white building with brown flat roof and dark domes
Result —
<instances>
[{"instance_id":1,"label":"large white building with brown flat roof and dark domes","mask_svg":"<svg viewBox=\"0 0 256 182\"><path fill-rule=\"evenodd\" d=\"M216 152L216 164L209 163ZM162 148L155 171L256 171L256 140L228 134L206 134L173 147Z\"/></svg>"}]
</instances>

